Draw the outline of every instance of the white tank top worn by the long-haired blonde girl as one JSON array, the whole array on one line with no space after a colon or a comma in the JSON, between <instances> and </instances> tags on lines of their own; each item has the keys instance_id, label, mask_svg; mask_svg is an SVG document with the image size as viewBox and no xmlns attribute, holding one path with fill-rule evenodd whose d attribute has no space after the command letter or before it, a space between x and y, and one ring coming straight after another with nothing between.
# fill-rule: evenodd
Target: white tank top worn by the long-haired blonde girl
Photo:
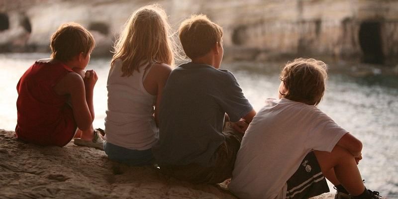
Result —
<instances>
[{"instance_id":1,"label":"white tank top worn by the long-haired blonde girl","mask_svg":"<svg viewBox=\"0 0 398 199\"><path fill-rule=\"evenodd\" d=\"M149 94L143 85L152 66L146 71L145 66L141 64L140 72L134 71L132 76L121 77L122 61L118 59L109 70L105 140L111 144L146 150L159 139L153 116L156 96Z\"/></svg>"}]
</instances>

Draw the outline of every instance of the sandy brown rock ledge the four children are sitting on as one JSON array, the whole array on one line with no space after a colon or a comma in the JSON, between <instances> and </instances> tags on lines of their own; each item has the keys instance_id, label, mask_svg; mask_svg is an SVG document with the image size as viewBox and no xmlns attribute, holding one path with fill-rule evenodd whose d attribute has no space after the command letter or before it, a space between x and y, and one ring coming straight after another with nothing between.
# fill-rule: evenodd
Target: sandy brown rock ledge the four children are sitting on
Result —
<instances>
[{"instance_id":1,"label":"sandy brown rock ledge the four children are sitting on","mask_svg":"<svg viewBox=\"0 0 398 199\"><path fill-rule=\"evenodd\" d=\"M24 143L0 129L0 199L47 198L236 199L223 185L193 185L156 168L128 167L72 142L62 148Z\"/></svg>"}]
</instances>

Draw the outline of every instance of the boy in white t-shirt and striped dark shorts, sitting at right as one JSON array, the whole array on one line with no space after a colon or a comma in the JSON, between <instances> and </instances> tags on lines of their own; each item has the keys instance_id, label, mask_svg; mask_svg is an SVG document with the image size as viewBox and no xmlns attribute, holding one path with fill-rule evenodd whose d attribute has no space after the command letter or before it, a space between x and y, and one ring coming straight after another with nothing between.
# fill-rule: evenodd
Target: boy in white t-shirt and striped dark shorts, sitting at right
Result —
<instances>
[{"instance_id":1,"label":"boy in white t-shirt and striped dark shorts, sitting at right","mask_svg":"<svg viewBox=\"0 0 398 199\"><path fill-rule=\"evenodd\" d=\"M241 199L304 199L337 188L336 199L380 199L357 164L362 143L316 105L327 65L296 59L283 69L279 99L267 99L243 137L229 189Z\"/></svg>"}]
</instances>

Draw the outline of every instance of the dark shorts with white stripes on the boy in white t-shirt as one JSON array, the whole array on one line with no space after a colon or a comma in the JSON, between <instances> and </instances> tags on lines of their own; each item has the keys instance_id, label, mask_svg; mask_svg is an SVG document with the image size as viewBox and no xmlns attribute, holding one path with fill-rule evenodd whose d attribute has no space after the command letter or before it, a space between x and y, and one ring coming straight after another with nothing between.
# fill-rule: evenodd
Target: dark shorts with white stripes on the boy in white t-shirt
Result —
<instances>
[{"instance_id":1,"label":"dark shorts with white stripes on the boy in white t-shirt","mask_svg":"<svg viewBox=\"0 0 398 199\"><path fill-rule=\"evenodd\" d=\"M329 192L314 152L309 152L287 182L286 199L307 199Z\"/></svg>"}]
</instances>

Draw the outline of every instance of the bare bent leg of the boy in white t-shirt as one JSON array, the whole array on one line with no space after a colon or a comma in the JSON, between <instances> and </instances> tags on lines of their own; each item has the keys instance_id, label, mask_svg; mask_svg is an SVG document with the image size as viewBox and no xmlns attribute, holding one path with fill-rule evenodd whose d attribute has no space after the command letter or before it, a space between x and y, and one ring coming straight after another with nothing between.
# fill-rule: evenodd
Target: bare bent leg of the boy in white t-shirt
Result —
<instances>
[{"instance_id":1,"label":"bare bent leg of the boy in white t-shirt","mask_svg":"<svg viewBox=\"0 0 398 199\"><path fill-rule=\"evenodd\" d=\"M330 153L325 151L314 151L314 153L322 173L326 174L326 178L331 178L331 182L337 180L352 196L358 196L364 192L365 186L362 183L357 163L354 156L347 150L335 146ZM332 169L334 176L330 174Z\"/></svg>"}]
</instances>

